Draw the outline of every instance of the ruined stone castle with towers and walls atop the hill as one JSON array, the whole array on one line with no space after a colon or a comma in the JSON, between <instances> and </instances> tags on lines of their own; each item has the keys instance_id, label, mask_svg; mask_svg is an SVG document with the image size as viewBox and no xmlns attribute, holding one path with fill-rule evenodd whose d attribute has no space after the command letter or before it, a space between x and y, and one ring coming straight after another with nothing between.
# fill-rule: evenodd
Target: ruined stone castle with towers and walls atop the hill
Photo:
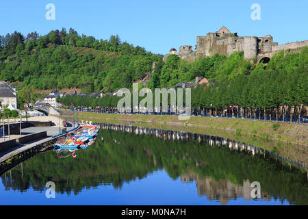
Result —
<instances>
[{"instance_id":1,"label":"ruined stone castle with towers and walls atop the hill","mask_svg":"<svg viewBox=\"0 0 308 219\"><path fill-rule=\"evenodd\" d=\"M192 46L181 46L178 53L172 48L169 54L164 55L164 61L171 54L192 61L198 57L209 57L216 53L229 56L235 51L243 51L244 58L247 60L257 59L257 63L261 61L268 63L270 58L281 50L298 51L306 46L308 46L308 40L279 45L270 35L238 36L237 33L231 33L226 27L222 27L216 33L198 36L194 50Z\"/></svg>"}]
</instances>

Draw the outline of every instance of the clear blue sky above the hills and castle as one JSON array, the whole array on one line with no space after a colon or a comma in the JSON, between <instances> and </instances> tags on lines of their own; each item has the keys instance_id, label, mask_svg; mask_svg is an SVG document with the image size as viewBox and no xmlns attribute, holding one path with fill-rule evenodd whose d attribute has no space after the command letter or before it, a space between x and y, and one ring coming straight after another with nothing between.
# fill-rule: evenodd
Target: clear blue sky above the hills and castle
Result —
<instances>
[{"instance_id":1,"label":"clear blue sky above the hills and castle","mask_svg":"<svg viewBox=\"0 0 308 219\"><path fill-rule=\"evenodd\" d=\"M48 3L55 5L55 21L45 18ZM253 3L261 6L261 21L251 19ZM307 0L10 0L0 5L0 35L15 30L44 35L73 27L97 39L118 34L123 41L165 54L182 44L194 47L197 36L224 25L239 36L270 34L284 44L308 40L307 8Z\"/></svg>"}]
</instances>

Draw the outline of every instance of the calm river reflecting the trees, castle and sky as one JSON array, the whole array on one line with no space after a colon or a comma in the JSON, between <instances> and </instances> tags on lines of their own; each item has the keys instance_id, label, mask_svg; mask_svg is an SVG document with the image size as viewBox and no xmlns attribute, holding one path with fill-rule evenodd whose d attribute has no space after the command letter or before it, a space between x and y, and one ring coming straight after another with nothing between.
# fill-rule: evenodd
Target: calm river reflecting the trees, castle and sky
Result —
<instances>
[{"instance_id":1,"label":"calm river reflecting the trees, castle and sky","mask_svg":"<svg viewBox=\"0 0 308 219\"><path fill-rule=\"evenodd\" d=\"M307 172L253 146L185 136L105 125L76 158L52 150L3 173L0 205L308 205Z\"/></svg>"}]
</instances>

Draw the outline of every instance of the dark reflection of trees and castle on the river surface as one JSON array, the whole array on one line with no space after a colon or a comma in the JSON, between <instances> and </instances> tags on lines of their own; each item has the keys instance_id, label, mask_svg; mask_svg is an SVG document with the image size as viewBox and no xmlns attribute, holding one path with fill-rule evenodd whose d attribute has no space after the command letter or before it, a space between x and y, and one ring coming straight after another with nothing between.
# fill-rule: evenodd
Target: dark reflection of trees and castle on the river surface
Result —
<instances>
[{"instance_id":1,"label":"dark reflection of trees and castle on the river surface","mask_svg":"<svg viewBox=\"0 0 308 219\"><path fill-rule=\"evenodd\" d=\"M99 185L120 189L124 183L165 170L171 179L194 181L198 196L222 204L240 197L251 200L251 183L257 181L262 201L274 198L308 205L307 172L251 145L177 131L101 127L97 142L77 151L76 159L59 159L51 151L6 172L1 176L5 189L44 191L45 183L53 181L56 192L79 194Z\"/></svg>"}]
</instances>

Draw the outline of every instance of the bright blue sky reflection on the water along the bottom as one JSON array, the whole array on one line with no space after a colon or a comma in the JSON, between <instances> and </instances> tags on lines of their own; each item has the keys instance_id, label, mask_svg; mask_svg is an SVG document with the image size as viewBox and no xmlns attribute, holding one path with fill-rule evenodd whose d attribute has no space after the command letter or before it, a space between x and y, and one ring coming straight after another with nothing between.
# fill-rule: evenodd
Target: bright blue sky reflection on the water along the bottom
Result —
<instances>
[{"instance_id":1,"label":"bright blue sky reflection on the water along the bottom","mask_svg":"<svg viewBox=\"0 0 308 219\"><path fill-rule=\"evenodd\" d=\"M24 170L25 171L25 170ZM8 173L9 177L9 173ZM9 178L8 178L9 179ZM14 179L14 178L13 178ZM9 183L9 180L8 180ZM46 198L46 190L38 192L29 188L26 192L5 190L0 179L0 205L221 205L217 199L199 196L196 183L183 183L181 179L171 179L164 170L150 173L144 179L124 183L120 189L113 185L99 185L86 188L75 195L60 194ZM163 186L157 186L163 185ZM55 185L57 186L57 185ZM230 198L228 205L290 205L283 198L268 201L246 201L242 197Z\"/></svg>"}]
</instances>

